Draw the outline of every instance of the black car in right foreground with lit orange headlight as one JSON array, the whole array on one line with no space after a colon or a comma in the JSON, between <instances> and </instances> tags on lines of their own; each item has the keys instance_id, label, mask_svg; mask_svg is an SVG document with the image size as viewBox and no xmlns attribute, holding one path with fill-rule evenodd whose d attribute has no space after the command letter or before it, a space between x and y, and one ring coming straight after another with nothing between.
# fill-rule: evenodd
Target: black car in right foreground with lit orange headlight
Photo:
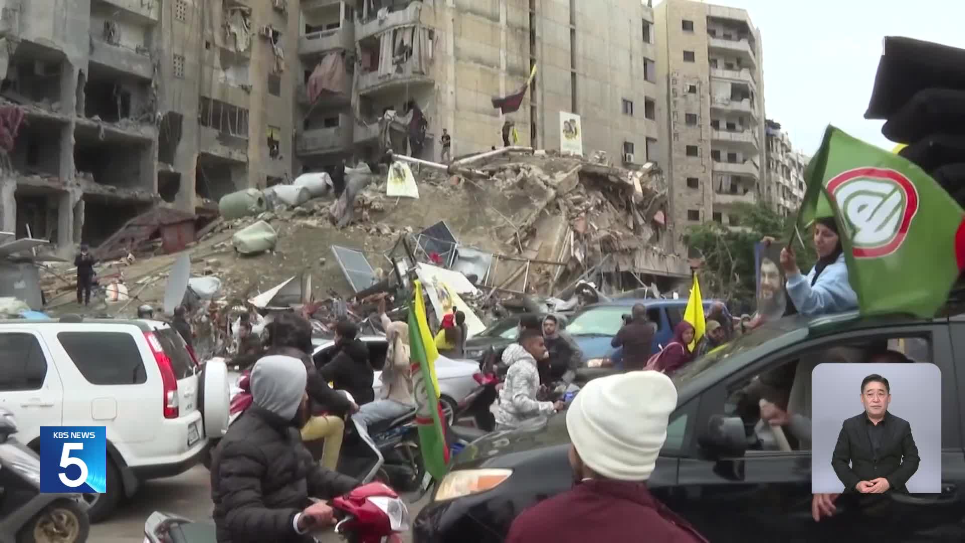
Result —
<instances>
[{"instance_id":1,"label":"black car in right foreground with lit orange headlight","mask_svg":"<svg viewBox=\"0 0 965 543\"><path fill-rule=\"evenodd\" d=\"M965 314L927 321L856 313L811 321L786 317L698 358L674 377L677 409L649 488L714 543L868 537L872 521L848 507L845 497L835 516L813 521L811 451L783 451L765 439L755 441L754 432L745 439L747 421L735 414L733 398L754 376L802 356L884 340L912 361L941 370L942 494L892 496L889 518L897 522L870 540L965 541L965 403L959 401L965 365L955 363L965 357ZM472 443L433 490L415 520L413 540L502 541L525 507L571 487L568 447L563 415L535 430L497 432Z\"/></svg>"}]
</instances>

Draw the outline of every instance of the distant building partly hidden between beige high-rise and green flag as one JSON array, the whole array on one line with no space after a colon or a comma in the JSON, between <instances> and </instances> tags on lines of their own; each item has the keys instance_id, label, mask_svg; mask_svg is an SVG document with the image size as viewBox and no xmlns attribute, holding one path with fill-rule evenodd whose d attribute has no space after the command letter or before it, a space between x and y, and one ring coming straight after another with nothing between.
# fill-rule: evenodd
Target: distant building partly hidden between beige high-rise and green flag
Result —
<instances>
[{"instance_id":1,"label":"distant building partly hidden between beige high-rise and green flag","mask_svg":"<svg viewBox=\"0 0 965 543\"><path fill-rule=\"evenodd\" d=\"M782 216L797 214L804 199L804 168L811 157L796 151L781 124L767 120L767 186L764 195L768 205Z\"/></svg>"}]
</instances>

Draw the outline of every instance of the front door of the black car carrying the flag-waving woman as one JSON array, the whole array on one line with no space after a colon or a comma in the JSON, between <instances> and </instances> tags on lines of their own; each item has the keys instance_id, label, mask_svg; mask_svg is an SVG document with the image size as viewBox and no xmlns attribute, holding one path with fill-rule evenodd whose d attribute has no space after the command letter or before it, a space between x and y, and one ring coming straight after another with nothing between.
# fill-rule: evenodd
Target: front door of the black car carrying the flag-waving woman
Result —
<instances>
[{"instance_id":1,"label":"front door of the black car carrying the flag-waving woman","mask_svg":"<svg viewBox=\"0 0 965 543\"><path fill-rule=\"evenodd\" d=\"M925 336L932 347L932 361L942 370L942 483L941 495L894 498L890 518L901 519L894 533L899 541L950 541L965 538L965 502L961 494L965 476L961 443L961 410L958 405L955 369L949 329L944 324L843 332L783 349L737 370L716 386L703 391L694 431L705 428L712 414L722 414L731 397L730 388L747 378L815 350L861 343L888 336ZM839 500L838 514L820 523L811 517L811 452L809 450L749 450L741 457L707 459L696 440L679 463L672 506L711 540L820 541L850 533L868 534L880 529L846 500ZM871 526L870 523L874 523ZM900 533L898 533L900 532ZM953 537L954 539L950 539Z\"/></svg>"}]
</instances>

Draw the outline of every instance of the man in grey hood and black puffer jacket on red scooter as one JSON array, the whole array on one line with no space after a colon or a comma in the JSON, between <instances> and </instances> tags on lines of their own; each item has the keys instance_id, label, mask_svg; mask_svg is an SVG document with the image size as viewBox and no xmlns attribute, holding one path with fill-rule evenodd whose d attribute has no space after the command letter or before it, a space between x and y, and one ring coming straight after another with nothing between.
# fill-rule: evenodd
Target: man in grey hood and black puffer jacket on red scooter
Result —
<instances>
[{"instance_id":1,"label":"man in grey hood and black puffer jacket on red scooter","mask_svg":"<svg viewBox=\"0 0 965 543\"><path fill-rule=\"evenodd\" d=\"M301 443L308 419L307 372L295 357L262 357L251 372L253 404L214 451L211 499L221 543L309 542L333 523L324 502L359 481L321 468Z\"/></svg>"}]
</instances>

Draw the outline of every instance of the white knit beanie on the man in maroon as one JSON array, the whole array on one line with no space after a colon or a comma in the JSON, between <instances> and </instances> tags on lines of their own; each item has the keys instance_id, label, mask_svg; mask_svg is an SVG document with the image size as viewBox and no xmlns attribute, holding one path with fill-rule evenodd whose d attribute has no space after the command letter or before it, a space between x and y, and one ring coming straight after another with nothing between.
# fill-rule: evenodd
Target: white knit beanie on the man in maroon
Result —
<instances>
[{"instance_id":1,"label":"white knit beanie on the man in maroon","mask_svg":"<svg viewBox=\"0 0 965 543\"><path fill-rule=\"evenodd\" d=\"M647 480L667 440L676 387L658 371L594 379L566 412L566 429L593 472L624 481Z\"/></svg>"}]
</instances>

